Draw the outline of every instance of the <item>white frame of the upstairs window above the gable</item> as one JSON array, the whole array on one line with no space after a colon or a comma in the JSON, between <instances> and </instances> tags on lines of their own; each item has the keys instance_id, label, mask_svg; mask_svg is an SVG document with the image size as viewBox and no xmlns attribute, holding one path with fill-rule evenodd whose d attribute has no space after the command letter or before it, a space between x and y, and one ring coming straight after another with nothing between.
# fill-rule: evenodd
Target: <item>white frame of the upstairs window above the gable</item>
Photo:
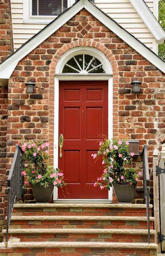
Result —
<instances>
[{"instance_id":1,"label":"white frame of the upstairs window above the gable","mask_svg":"<svg viewBox=\"0 0 165 256\"><path fill-rule=\"evenodd\" d=\"M68 0L68 7L73 5L75 0ZM57 16L32 15L32 0L23 0L23 23L47 24Z\"/></svg>"}]
</instances>

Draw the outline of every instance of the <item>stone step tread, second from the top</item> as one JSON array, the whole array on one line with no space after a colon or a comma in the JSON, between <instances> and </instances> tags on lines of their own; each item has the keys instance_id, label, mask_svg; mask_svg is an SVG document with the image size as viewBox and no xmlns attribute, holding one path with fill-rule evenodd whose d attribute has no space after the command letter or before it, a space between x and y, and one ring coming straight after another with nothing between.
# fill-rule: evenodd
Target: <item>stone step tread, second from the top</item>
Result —
<instances>
[{"instance_id":1,"label":"stone step tread, second from the top","mask_svg":"<svg viewBox=\"0 0 165 256\"><path fill-rule=\"evenodd\" d=\"M6 217L7 220L7 217ZM58 215L39 215L39 216L11 216L11 220L119 220L119 221L147 221L147 217L143 216L58 216ZM150 217L150 221L154 221L154 217Z\"/></svg>"}]
</instances>

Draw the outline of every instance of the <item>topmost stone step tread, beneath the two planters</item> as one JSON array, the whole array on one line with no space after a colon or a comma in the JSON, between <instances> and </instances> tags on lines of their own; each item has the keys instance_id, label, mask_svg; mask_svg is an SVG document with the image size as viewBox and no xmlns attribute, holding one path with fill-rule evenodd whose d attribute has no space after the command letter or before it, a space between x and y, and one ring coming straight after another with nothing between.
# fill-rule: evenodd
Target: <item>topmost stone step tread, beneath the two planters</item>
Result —
<instances>
[{"instance_id":1,"label":"topmost stone step tread, beneath the two planters","mask_svg":"<svg viewBox=\"0 0 165 256\"><path fill-rule=\"evenodd\" d=\"M146 208L144 204L131 203L15 203L14 208ZM149 205L152 208L152 205Z\"/></svg>"}]
</instances>

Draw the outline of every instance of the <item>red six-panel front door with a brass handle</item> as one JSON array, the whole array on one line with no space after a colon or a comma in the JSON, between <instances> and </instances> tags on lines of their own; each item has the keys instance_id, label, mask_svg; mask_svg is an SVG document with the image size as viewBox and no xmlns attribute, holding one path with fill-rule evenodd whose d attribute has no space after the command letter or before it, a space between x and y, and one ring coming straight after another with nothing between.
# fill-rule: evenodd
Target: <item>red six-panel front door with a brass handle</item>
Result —
<instances>
[{"instance_id":1,"label":"red six-panel front door with a brass handle","mask_svg":"<svg viewBox=\"0 0 165 256\"><path fill-rule=\"evenodd\" d=\"M60 82L60 134L64 143L58 167L67 186L64 191L58 189L58 198L107 199L107 190L93 186L103 172L102 159L95 161L91 156L99 148L99 135L108 136L107 81Z\"/></svg>"}]
</instances>

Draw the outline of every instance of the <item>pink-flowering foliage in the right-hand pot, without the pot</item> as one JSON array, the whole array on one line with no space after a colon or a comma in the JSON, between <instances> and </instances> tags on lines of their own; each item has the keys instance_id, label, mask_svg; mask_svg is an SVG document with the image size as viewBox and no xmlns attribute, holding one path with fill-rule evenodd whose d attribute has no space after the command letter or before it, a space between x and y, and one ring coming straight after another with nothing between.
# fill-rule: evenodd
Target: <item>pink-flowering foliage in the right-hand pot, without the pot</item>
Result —
<instances>
[{"instance_id":1,"label":"pink-flowering foliage in the right-hand pot, without the pot","mask_svg":"<svg viewBox=\"0 0 165 256\"><path fill-rule=\"evenodd\" d=\"M132 168L133 152L128 152L128 141L108 140L100 141L100 149L97 154L92 154L93 158L103 158L105 169L100 178L97 178L94 186L101 189L110 189L112 184L132 185L136 187L138 178L137 173ZM139 172L139 175L142 173Z\"/></svg>"}]
</instances>

